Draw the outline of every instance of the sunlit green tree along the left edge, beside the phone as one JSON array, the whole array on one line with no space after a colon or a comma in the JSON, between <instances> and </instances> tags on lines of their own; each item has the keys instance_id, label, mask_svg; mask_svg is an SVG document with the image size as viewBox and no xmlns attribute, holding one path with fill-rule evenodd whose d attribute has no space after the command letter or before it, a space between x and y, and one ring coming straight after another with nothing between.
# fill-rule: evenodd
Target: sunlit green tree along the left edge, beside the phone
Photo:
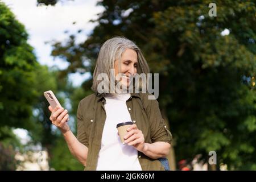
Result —
<instances>
[{"instance_id":1,"label":"sunlit green tree along the left edge, beside the phone","mask_svg":"<svg viewBox=\"0 0 256 182\"><path fill-rule=\"evenodd\" d=\"M10 151L5 154L11 154L10 147L21 147L13 134L15 128L28 130L32 143L46 147L55 138L43 92L57 90L56 73L36 61L27 38L23 24L0 2L0 141L2 151Z\"/></svg>"}]
</instances>

